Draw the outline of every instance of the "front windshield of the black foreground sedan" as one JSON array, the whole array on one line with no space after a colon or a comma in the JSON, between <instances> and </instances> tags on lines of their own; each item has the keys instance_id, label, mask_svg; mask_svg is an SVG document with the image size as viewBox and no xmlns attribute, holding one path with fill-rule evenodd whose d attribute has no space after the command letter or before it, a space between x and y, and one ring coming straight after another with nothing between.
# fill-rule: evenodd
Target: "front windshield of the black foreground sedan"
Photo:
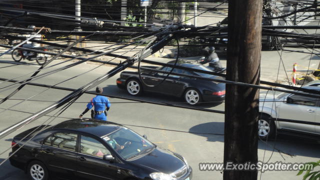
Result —
<instances>
[{"instance_id":1,"label":"front windshield of the black foreground sedan","mask_svg":"<svg viewBox=\"0 0 320 180\"><path fill-rule=\"evenodd\" d=\"M102 138L124 159L149 152L155 147L150 141L126 127Z\"/></svg>"}]
</instances>

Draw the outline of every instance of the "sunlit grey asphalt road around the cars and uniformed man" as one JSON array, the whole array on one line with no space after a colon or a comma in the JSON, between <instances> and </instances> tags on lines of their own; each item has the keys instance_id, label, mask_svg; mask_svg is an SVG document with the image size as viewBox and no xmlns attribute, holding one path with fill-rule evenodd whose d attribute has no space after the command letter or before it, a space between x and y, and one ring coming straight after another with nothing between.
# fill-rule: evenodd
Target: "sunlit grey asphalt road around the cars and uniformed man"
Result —
<instances>
[{"instance_id":1,"label":"sunlit grey asphalt road around the cars and uniformed man","mask_svg":"<svg viewBox=\"0 0 320 180\"><path fill-rule=\"evenodd\" d=\"M273 55L275 56L276 54ZM2 78L14 78L26 73L31 73L39 67L35 63L14 65L12 64L12 59L9 55L3 55L0 57L0 62L0 77ZM56 60L55 63L57 62L61 61ZM69 62L66 64L68 63ZM267 64L267 62L263 61L262 64L264 63ZM275 64L275 61L272 63ZM80 64L55 73L54 75L49 75L35 80L34 82L53 85L67 78L89 71L95 67L97 67L97 64ZM94 71L89 71L83 75L59 83L57 86L78 88L86 84L88 81L106 73L111 68L112 66L102 65L97 67ZM25 78L27 75L23 77ZM23 79L23 77L16 79ZM118 75L109 78L108 80L102 82L100 86L103 87L103 92L106 94L127 97L128 95L123 89L116 87L115 79L117 77ZM0 87L4 86L5 84L10 83L0 81ZM0 92L0 98L5 97L13 89ZM47 88L26 85L16 95L11 97L12 99L0 104L0 129L20 121L21 119L29 116L31 113L43 109L44 107L70 93L70 91L65 90L45 89ZM11 107L12 105L21 101L18 99L25 99L33 95L35 96L31 97L30 100ZM83 94L67 110L61 113L59 117L54 118L52 121L50 121L52 118L49 119L49 116L43 116L25 125L21 129L9 134L5 138L0 139L0 161L7 158L8 152L10 151L7 150L7 148L10 146L11 139L15 134L41 123L49 122L50 124L56 124L67 118L78 117L78 115L84 110L87 101L92 97L93 96L90 94ZM138 98L177 104L183 103L182 99L154 93L147 93ZM127 127L140 134L146 134L149 140L158 144L159 146L182 154L193 168L193 179L222 179L222 173L219 171L200 171L198 163L223 162L223 135L216 135L224 133L223 114L149 103L137 103L135 101L117 98L110 98L110 101L112 104L110 111L108 112L108 120L125 124ZM201 107L224 110L223 103L204 104ZM6 108L9 109L4 111ZM56 112L57 111L53 111L47 115L53 115ZM89 115L90 114L87 113L84 116L89 117ZM171 130L179 130L184 132ZM269 160L269 162L316 161L320 157L320 154L318 153L320 149L319 147L319 143L315 141L279 135L276 141L270 140L267 142L267 144L259 142L258 159L263 160L264 162L267 160ZM261 179L302 179L301 176L296 176L296 173L296 171L266 171L261 173ZM5 161L0 166L0 179L26 179L26 175L22 170L11 166L8 161Z\"/></svg>"}]
</instances>

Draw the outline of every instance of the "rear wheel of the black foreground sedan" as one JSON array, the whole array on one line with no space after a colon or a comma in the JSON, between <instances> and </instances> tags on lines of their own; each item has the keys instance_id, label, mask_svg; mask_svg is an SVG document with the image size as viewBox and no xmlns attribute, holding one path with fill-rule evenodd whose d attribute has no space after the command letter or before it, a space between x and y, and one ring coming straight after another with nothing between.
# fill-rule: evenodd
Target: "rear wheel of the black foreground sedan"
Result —
<instances>
[{"instance_id":1,"label":"rear wheel of the black foreground sedan","mask_svg":"<svg viewBox=\"0 0 320 180\"><path fill-rule=\"evenodd\" d=\"M47 170L40 161L35 160L30 162L27 172L31 180L46 180L48 178Z\"/></svg>"}]
</instances>

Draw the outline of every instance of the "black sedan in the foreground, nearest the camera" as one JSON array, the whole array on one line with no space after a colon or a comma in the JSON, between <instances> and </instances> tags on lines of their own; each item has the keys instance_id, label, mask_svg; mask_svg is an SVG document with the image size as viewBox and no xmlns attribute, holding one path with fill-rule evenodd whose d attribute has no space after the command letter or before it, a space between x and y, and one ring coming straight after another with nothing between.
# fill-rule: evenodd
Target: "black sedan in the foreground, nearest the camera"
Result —
<instances>
[{"instance_id":1,"label":"black sedan in the foreground, nearest the camera","mask_svg":"<svg viewBox=\"0 0 320 180\"><path fill-rule=\"evenodd\" d=\"M70 119L39 129L42 127L16 135L9 158L32 180L189 180L192 176L191 167L181 155L156 146L120 124Z\"/></svg>"}]
</instances>

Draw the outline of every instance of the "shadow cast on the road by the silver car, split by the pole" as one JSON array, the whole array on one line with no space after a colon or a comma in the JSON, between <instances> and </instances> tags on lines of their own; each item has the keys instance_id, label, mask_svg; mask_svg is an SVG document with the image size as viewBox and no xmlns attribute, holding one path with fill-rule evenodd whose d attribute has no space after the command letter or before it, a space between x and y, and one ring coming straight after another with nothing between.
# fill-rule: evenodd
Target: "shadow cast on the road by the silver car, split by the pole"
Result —
<instances>
[{"instance_id":1,"label":"shadow cast on the road by the silver car, split by the pole","mask_svg":"<svg viewBox=\"0 0 320 180\"><path fill-rule=\"evenodd\" d=\"M191 127L189 132L204 136L207 138L207 141L224 142L224 122L197 124ZM265 149L267 151L274 150L290 156L320 157L318 153L320 149L319 141L285 134L277 134L276 139L268 139L267 142L259 140L258 149Z\"/></svg>"}]
</instances>

